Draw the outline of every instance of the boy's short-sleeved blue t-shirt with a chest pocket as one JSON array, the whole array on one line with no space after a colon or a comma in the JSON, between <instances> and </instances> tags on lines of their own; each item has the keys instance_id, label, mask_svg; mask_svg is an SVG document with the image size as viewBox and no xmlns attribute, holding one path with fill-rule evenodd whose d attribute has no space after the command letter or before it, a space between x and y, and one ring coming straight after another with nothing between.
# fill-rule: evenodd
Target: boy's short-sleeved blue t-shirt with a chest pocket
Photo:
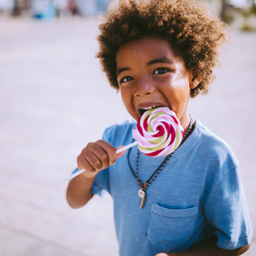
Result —
<instances>
[{"instance_id":1,"label":"boy's short-sleeved blue t-shirt with a chest pocket","mask_svg":"<svg viewBox=\"0 0 256 256\"><path fill-rule=\"evenodd\" d=\"M132 142L133 122L107 128L103 139L114 147ZM138 178L143 184L165 156L139 153ZM129 154L136 173L137 146ZM119 255L156 255L185 251L218 237L232 250L251 242L252 227L238 160L231 148L196 120L192 134L175 150L156 180L147 187L140 209L139 186L128 166L128 153L100 172L93 194L107 190L114 201Z\"/></svg>"}]
</instances>

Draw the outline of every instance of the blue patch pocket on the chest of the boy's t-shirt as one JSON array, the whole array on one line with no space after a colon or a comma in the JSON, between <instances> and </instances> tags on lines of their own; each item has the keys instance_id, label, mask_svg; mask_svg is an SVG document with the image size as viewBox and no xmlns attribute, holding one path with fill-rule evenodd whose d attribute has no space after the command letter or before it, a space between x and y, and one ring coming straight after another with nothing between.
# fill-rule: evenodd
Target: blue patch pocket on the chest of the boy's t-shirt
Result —
<instances>
[{"instance_id":1,"label":"blue patch pocket on the chest of the boy's t-shirt","mask_svg":"<svg viewBox=\"0 0 256 256\"><path fill-rule=\"evenodd\" d=\"M198 207L168 209L152 204L147 240L166 251L174 251L193 235L197 212Z\"/></svg>"}]
</instances>

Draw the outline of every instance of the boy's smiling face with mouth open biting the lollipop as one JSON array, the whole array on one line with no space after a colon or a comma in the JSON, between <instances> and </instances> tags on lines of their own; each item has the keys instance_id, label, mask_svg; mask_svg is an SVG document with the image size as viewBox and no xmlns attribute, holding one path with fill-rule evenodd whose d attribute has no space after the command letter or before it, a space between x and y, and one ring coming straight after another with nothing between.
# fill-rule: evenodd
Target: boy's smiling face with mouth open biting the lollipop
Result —
<instances>
[{"instance_id":1,"label":"boy's smiling face with mouth open biting the lollipop","mask_svg":"<svg viewBox=\"0 0 256 256\"><path fill-rule=\"evenodd\" d=\"M121 97L134 119L145 109L165 106L187 128L189 93L197 83L165 40L147 36L126 43L117 52L116 62Z\"/></svg>"}]
</instances>

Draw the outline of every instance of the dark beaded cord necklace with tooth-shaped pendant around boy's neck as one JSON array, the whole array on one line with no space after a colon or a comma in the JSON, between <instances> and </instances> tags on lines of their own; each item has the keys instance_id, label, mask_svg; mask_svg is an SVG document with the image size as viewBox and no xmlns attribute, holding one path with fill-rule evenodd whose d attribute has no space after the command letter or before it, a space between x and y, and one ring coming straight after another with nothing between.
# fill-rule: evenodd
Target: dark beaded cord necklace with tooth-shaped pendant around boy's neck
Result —
<instances>
[{"instance_id":1,"label":"dark beaded cord necklace with tooth-shaped pendant around boy's neck","mask_svg":"<svg viewBox=\"0 0 256 256\"><path fill-rule=\"evenodd\" d=\"M181 142L180 145L182 145L185 142L185 139L188 137L188 135L192 132L194 128L194 121L193 119L190 117L190 122L189 122L189 126L187 131L185 132L185 135L183 137L183 140ZM180 146L179 146L180 147ZM139 150L137 149L137 164L136 164L136 174L134 173L133 168L130 165L129 162L129 154L130 154L130 149L128 151L128 166L132 172L132 174L134 175L134 177L137 179L137 184L139 185L140 189L138 190L137 194L140 197L139 200L139 208L142 209L146 203L146 189L147 187L156 179L156 177L161 173L161 171L163 170L163 168L166 166L167 162L169 161L169 159L173 156L173 153L169 154L166 156L165 160L162 162L162 164L160 166L158 166L158 168L156 169L156 171L153 173L153 175L151 175L149 177L149 179L147 180L147 182L145 183L145 185L142 184L141 180L138 179L138 157L139 157Z\"/></svg>"}]
</instances>

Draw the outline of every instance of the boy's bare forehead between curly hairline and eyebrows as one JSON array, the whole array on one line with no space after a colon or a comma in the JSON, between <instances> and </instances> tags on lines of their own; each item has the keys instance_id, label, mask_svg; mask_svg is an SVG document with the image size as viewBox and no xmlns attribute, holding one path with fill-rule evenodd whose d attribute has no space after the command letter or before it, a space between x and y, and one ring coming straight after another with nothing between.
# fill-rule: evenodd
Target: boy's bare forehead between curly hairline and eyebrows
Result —
<instances>
[{"instance_id":1,"label":"boy's bare forehead between curly hairline and eyebrows","mask_svg":"<svg viewBox=\"0 0 256 256\"><path fill-rule=\"evenodd\" d=\"M147 36L122 45L117 52L116 62L119 67L126 62L150 62L161 58L183 62L183 58L175 54L166 40Z\"/></svg>"}]
</instances>

